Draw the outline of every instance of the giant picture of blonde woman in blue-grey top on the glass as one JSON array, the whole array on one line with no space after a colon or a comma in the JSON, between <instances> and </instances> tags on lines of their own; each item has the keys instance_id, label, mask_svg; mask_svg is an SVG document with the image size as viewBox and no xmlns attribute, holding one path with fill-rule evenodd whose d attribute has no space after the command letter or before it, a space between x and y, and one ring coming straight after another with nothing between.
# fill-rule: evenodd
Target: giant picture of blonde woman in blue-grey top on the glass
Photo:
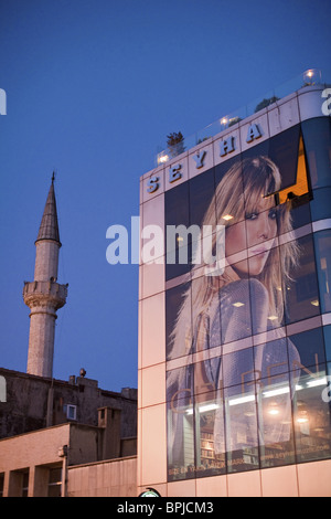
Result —
<instances>
[{"instance_id":1,"label":"giant picture of blonde woman in blue-grey top on the glass","mask_svg":"<svg viewBox=\"0 0 331 519\"><path fill-rule=\"evenodd\" d=\"M292 155L293 170L298 140ZM285 182L267 155L225 167L201 221L225 225L225 264L218 275L193 265L168 294L169 479L293 463L300 356L282 326L301 254L291 205L275 197Z\"/></svg>"}]
</instances>

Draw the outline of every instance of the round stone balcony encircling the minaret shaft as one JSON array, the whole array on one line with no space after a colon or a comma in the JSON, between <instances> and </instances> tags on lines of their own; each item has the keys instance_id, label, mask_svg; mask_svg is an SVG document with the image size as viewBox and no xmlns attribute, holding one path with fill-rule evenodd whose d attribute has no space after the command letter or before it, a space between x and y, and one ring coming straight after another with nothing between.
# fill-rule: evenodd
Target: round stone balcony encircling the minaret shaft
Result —
<instances>
[{"instance_id":1,"label":"round stone balcony encircling the minaret shaft","mask_svg":"<svg viewBox=\"0 0 331 519\"><path fill-rule=\"evenodd\" d=\"M30 308L51 306L55 310L66 303L68 285L60 285L53 279L49 282L24 282L23 299Z\"/></svg>"}]
</instances>

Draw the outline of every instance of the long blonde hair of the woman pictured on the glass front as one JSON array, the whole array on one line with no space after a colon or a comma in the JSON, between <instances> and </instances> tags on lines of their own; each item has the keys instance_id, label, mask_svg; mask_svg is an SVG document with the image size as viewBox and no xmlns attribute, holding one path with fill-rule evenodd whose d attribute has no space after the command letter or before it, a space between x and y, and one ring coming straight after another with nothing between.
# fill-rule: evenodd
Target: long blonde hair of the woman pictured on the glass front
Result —
<instances>
[{"instance_id":1,"label":"long blonde hair of the woman pictured on the glass front","mask_svg":"<svg viewBox=\"0 0 331 519\"><path fill-rule=\"evenodd\" d=\"M216 187L214 197L205 212L203 225L222 221L226 214L235 215L236 221L244 220L245 214L253 213L260 203L261 197L266 197L280 189L281 177L277 166L267 157L246 158L235 162ZM277 234L284 234L292 230L289 212L289 202L277 208L278 229ZM225 233L232 224L225 224ZM213 237L215 246L216 234ZM279 257L279 262L276 262ZM298 246L296 241L289 241L282 245L281 254L278 247L273 247L268 255L263 272L255 276L267 289L269 296L269 311L277 316L280 324L284 316L282 297L286 297L286 286L290 279L290 268L297 264ZM280 265L279 265L280 263ZM194 266L189 278L194 277ZM229 269L231 271L231 269ZM193 275L193 276L192 276ZM222 287L233 282L225 268L220 276L202 275L194 280L194 289L190 288L183 294L183 303L178 313L178 318L170 337L169 358L181 357L189 353L192 338L199 336L205 326L204 316L215 296ZM191 327L192 315L192 327ZM196 325L199 324L199 325ZM193 332L192 332L193 329ZM204 333L202 333L203 336Z\"/></svg>"}]
</instances>

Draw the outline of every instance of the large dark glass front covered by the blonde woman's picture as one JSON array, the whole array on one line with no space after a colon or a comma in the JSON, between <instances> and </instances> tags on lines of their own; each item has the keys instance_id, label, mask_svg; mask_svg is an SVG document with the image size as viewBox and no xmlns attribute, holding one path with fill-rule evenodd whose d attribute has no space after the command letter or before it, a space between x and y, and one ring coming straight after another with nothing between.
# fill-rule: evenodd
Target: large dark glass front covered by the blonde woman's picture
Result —
<instances>
[{"instance_id":1,"label":"large dark glass front covered by the blonde woman's picture","mask_svg":"<svg viewBox=\"0 0 331 519\"><path fill-rule=\"evenodd\" d=\"M166 192L166 225L178 226L166 264L168 480L331 456L330 231L312 233L312 124ZM193 234L180 260L192 225L210 230L207 269Z\"/></svg>"}]
</instances>

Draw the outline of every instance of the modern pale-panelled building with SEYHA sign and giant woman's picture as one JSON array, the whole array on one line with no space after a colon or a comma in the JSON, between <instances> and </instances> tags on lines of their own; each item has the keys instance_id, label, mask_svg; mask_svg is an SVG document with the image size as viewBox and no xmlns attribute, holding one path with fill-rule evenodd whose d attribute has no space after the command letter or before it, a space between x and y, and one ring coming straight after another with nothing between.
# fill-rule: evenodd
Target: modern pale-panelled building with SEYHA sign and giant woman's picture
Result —
<instances>
[{"instance_id":1,"label":"modern pale-panelled building with SEYHA sign and giant woman's picture","mask_svg":"<svg viewBox=\"0 0 331 519\"><path fill-rule=\"evenodd\" d=\"M274 98L140 180L140 490L331 495L330 95Z\"/></svg>"}]
</instances>

